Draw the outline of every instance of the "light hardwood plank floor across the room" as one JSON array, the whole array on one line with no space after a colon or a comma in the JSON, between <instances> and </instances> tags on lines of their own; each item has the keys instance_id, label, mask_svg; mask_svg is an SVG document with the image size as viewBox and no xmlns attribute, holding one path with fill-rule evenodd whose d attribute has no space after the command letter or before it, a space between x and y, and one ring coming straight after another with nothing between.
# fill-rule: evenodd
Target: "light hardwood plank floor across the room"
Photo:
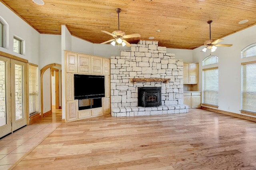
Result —
<instances>
[{"instance_id":1,"label":"light hardwood plank floor across the room","mask_svg":"<svg viewBox=\"0 0 256 170\"><path fill-rule=\"evenodd\" d=\"M255 170L256 123L201 109L61 123L14 170Z\"/></svg>"}]
</instances>

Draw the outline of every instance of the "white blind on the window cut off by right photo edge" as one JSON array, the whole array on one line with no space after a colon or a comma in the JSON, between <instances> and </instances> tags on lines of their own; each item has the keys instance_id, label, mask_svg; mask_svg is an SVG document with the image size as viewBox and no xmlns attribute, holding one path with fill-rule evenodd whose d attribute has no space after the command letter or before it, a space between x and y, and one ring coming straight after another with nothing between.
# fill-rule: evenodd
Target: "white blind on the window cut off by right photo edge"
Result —
<instances>
[{"instance_id":1,"label":"white blind on the window cut off by right photo edge","mask_svg":"<svg viewBox=\"0 0 256 170\"><path fill-rule=\"evenodd\" d=\"M256 61L241 65L241 110L256 113Z\"/></svg>"}]
</instances>

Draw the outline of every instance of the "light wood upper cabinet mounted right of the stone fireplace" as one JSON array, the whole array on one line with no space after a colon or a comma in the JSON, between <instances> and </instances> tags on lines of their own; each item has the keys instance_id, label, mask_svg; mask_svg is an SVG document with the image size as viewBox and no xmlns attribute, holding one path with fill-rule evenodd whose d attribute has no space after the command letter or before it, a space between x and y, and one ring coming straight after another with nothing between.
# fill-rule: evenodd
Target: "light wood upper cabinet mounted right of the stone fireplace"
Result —
<instances>
[{"instance_id":1,"label":"light wood upper cabinet mounted right of the stone fireplace","mask_svg":"<svg viewBox=\"0 0 256 170\"><path fill-rule=\"evenodd\" d=\"M184 84L198 83L198 63L183 64L183 83Z\"/></svg>"}]
</instances>

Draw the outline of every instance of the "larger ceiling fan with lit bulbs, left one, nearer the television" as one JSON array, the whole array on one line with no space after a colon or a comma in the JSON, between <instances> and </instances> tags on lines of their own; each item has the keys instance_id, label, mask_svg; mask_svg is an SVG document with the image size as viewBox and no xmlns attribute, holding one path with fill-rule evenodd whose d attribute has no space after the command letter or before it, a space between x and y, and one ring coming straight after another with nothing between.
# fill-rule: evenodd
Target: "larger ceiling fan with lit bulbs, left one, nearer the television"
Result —
<instances>
[{"instance_id":1,"label":"larger ceiling fan with lit bulbs, left one, nearer the television","mask_svg":"<svg viewBox=\"0 0 256 170\"><path fill-rule=\"evenodd\" d=\"M140 34L126 35L125 32L120 31L119 30L119 13L121 12L121 9L120 8L116 8L116 12L118 13L118 30L113 31L112 34L110 32L102 30L102 32L104 32L106 34L109 34L110 36L113 36L114 39L108 40L108 41L103 42L101 44L105 44L105 43L111 42L112 45L115 45L116 42L117 42L118 44L122 44L122 46L126 45L128 47L131 47L132 45L130 43L128 43L126 40L124 40L124 39L140 37Z\"/></svg>"}]
</instances>

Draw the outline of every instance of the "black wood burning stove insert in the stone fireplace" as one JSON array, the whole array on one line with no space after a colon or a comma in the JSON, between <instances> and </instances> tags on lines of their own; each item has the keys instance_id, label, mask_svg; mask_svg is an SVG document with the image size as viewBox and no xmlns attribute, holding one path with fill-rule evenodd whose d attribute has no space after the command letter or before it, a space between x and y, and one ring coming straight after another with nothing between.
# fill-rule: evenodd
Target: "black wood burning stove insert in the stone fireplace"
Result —
<instances>
[{"instance_id":1,"label":"black wood burning stove insert in the stone fireplace","mask_svg":"<svg viewBox=\"0 0 256 170\"><path fill-rule=\"evenodd\" d=\"M161 87L138 87L138 106L156 107L162 105Z\"/></svg>"}]
</instances>

